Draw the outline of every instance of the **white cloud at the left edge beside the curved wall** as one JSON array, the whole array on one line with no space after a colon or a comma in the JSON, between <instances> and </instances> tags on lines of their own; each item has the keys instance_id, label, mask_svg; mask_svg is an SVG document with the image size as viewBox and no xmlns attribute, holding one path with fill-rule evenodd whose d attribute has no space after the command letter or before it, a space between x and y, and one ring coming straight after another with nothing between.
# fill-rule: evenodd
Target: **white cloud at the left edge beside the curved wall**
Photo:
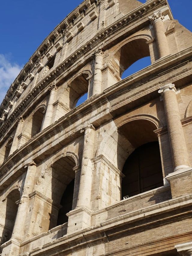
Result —
<instances>
[{"instance_id":1,"label":"white cloud at the left edge beside the curved wall","mask_svg":"<svg viewBox=\"0 0 192 256\"><path fill-rule=\"evenodd\" d=\"M11 63L10 54L4 55L0 53L0 105L11 83L13 83L21 69L22 66Z\"/></svg>"}]
</instances>

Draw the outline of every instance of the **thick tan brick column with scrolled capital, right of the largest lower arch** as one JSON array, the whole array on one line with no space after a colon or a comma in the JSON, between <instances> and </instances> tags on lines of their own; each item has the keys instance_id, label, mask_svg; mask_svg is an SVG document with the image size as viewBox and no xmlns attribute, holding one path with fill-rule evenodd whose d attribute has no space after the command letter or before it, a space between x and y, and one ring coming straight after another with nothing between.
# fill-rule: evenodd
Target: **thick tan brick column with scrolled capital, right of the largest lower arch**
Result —
<instances>
[{"instance_id":1,"label":"thick tan brick column with scrolled capital, right of the largest lower arch","mask_svg":"<svg viewBox=\"0 0 192 256\"><path fill-rule=\"evenodd\" d=\"M179 113L176 91L174 84L166 84L159 90L164 101L174 171L189 167L187 147Z\"/></svg>"}]
</instances>

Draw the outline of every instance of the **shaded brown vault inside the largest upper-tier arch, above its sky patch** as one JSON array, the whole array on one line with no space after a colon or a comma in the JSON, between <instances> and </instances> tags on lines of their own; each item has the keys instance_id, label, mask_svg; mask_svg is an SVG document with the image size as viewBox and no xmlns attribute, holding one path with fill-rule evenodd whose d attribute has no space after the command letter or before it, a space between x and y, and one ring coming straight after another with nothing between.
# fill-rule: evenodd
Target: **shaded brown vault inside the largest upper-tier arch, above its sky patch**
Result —
<instances>
[{"instance_id":1,"label":"shaded brown vault inside the largest upper-tier arch, above its sky patch","mask_svg":"<svg viewBox=\"0 0 192 256\"><path fill-rule=\"evenodd\" d=\"M128 69L134 62L144 57L150 56L149 46L146 39L134 39L123 45L113 57L113 65L122 77L123 72ZM147 65L148 66L148 65Z\"/></svg>"}]
</instances>

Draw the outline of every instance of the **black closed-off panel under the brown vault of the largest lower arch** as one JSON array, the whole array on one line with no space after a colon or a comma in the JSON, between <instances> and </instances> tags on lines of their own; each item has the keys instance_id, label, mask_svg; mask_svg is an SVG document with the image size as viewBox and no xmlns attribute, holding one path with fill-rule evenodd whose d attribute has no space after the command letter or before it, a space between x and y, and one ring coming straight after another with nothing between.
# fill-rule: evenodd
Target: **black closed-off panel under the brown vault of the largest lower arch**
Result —
<instances>
[{"instance_id":1,"label":"black closed-off panel under the brown vault of the largest lower arch","mask_svg":"<svg viewBox=\"0 0 192 256\"><path fill-rule=\"evenodd\" d=\"M163 186L159 143L149 142L135 149L122 172L122 199Z\"/></svg>"}]
</instances>

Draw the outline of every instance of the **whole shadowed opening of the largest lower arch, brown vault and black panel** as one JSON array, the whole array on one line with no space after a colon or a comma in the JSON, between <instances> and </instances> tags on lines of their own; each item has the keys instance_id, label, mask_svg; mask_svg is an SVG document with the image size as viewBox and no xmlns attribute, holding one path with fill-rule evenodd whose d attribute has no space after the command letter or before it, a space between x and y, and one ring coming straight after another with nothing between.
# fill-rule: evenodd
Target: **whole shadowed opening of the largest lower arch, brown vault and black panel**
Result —
<instances>
[{"instance_id":1,"label":"whole shadowed opening of the largest lower arch, brown vault and black panel","mask_svg":"<svg viewBox=\"0 0 192 256\"><path fill-rule=\"evenodd\" d=\"M132 120L119 128L131 149L128 149L122 167L125 177L121 184L121 199L164 185L156 129L156 124L147 119Z\"/></svg>"}]
</instances>

